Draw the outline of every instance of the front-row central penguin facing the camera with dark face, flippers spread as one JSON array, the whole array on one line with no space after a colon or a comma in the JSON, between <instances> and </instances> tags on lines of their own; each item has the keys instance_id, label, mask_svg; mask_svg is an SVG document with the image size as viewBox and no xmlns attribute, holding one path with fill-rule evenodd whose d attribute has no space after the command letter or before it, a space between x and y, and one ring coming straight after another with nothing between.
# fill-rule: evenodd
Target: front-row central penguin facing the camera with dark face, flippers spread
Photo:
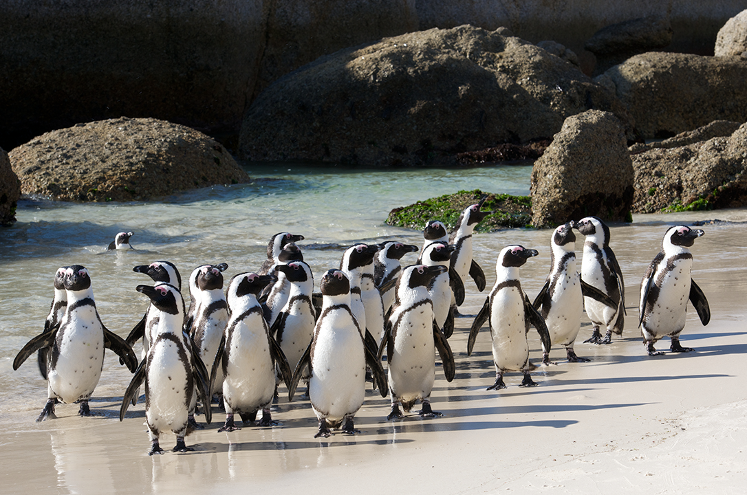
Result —
<instances>
[{"instance_id":1,"label":"front-row central penguin facing the camera with dark face, flippers spread","mask_svg":"<svg viewBox=\"0 0 747 495\"><path fill-rule=\"evenodd\" d=\"M322 312L314 338L304 351L288 387L293 400L298 382L309 366L309 399L319 421L314 438L329 437L331 429L358 432L353 417L365 396L366 364L371 367L382 397L388 388L381 361L363 340L363 329L350 309L350 280L341 270L328 270L320 281Z\"/></svg>"}]
</instances>

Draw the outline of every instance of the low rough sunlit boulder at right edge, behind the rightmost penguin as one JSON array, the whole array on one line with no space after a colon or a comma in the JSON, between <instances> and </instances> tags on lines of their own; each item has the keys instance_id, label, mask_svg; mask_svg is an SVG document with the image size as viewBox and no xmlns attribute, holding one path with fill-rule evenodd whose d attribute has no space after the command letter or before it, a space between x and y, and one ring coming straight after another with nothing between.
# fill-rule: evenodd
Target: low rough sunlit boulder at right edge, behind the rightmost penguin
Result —
<instances>
[{"instance_id":1,"label":"low rough sunlit boulder at right edge, behind the rightmost penguin","mask_svg":"<svg viewBox=\"0 0 747 495\"><path fill-rule=\"evenodd\" d=\"M633 211L747 205L747 124L728 137L633 155Z\"/></svg>"}]
</instances>

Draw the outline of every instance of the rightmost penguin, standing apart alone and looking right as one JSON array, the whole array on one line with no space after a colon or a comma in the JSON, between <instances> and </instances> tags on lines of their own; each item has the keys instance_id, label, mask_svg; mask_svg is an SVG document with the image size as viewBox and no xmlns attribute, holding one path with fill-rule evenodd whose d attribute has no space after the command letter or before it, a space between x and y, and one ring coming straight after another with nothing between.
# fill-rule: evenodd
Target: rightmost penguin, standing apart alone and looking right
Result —
<instances>
[{"instance_id":1,"label":"rightmost penguin, standing apart alone and looking right","mask_svg":"<svg viewBox=\"0 0 747 495\"><path fill-rule=\"evenodd\" d=\"M692 253L689 248L704 231L686 225L669 228L662 248L648 265L641 280L639 326L648 355L661 355L654 343L669 335L672 352L691 352L692 347L680 344L680 332L685 326L687 301L692 302L701 323L710 322L708 301L698 284L692 280Z\"/></svg>"}]
</instances>

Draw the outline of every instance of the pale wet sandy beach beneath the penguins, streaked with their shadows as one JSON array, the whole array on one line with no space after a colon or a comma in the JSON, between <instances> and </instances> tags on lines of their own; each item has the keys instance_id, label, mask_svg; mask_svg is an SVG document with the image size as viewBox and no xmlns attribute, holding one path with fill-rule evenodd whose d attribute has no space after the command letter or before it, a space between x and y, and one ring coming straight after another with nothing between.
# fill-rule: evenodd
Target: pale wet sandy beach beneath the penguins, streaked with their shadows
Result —
<instances>
[{"instance_id":1,"label":"pale wet sandy beach beneath the penguins, streaked with their shadows","mask_svg":"<svg viewBox=\"0 0 747 495\"><path fill-rule=\"evenodd\" d=\"M710 213L711 218L725 217ZM736 220L743 220L745 212L737 213ZM118 419L130 376L108 353L91 402L96 416L77 417L77 405L59 405L57 420L34 423L46 397L38 377L22 407L3 408L2 491L743 493L747 482L745 227L702 227L706 236L692 249L693 276L709 299L712 320L702 326L689 306L682 343L695 352L658 357L645 355L635 328L637 286L656 246L647 241L645 249L636 247L629 235L633 228L651 238L665 231L662 225L652 225L650 234L645 227L613 228L613 249L626 275L623 337L608 346L581 343L591 333L584 315L576 352L592 361L571 364L565 361L565 352L555 349L551 358L557 364L540 366L533 373L539 387L518 387L521 375L512 373L506 376L506 390L485 390L495 379L489 331L483 328L475 352L467 357L472 319L462 317L456 320L459 329L450 339L456 379L447 383L437 367L433 408L442 417L423 419L412 411L404 420L387 421L388 399L368 390L356 415L361 432L336 432L320 440L313 438L317 423L308 401L297 396L288 403L281 396L273 407L279 426L217 433L223 414L214 407L214 422L187 437L194 452L149 457L143 403L131 407L122 423ZM548 237L550 231L543 233ZM627 241L621 240L626 236ZM632 245L624 247L624 242ZM717 250L723 246L728 256L719 257ZM492 263L481 263L489 284L495 280ZM524 286L530 296L539 290L546 270L543 266L530 274L531 281ZM484 296L469 286L462 312L475 314ZM530 355L539 364L536 331L530 330L529 337ZM668 350L669 340L660 341L657 349ZM36 373L31 360L24 367L30 370L27 376ZM0 373L21 379L11 375L7 359ZM173 443L173 435L162 436L164 449Z\"/></svg>"}]
</instances>

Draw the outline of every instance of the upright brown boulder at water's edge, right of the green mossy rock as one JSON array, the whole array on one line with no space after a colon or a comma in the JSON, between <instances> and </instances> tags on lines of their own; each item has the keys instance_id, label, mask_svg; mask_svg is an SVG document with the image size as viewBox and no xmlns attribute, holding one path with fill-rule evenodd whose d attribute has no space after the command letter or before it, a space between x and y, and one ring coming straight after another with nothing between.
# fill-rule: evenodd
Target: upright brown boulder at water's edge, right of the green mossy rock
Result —
<instances>
[{"instance_id":1,"label":"upright brown boulder at water's edge, right of the green mossy rock","mask_svg":"<svg viewBox=\"0 0 747 495\"><path fill-rule=\"evenodd\" d=\"M530 191L536 227L589 215L630 221L633 164L619 119L598 110L568 117L535 162Z\"/></svg>"}]
</instances>

